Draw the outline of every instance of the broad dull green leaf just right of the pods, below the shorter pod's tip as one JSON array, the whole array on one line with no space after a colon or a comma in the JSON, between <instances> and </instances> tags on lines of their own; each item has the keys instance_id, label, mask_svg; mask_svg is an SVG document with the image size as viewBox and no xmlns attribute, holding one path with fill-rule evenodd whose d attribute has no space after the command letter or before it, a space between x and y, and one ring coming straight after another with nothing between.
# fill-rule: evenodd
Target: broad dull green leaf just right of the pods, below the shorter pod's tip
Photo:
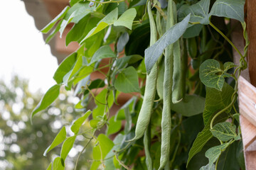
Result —
<instances>
[{"instance_id":1,"label":"broad dull green leaf just right of the pods, below the shorter pod's tip","mask_svg":"<svg viewBox=\"0 0 256 170\"><path fill-rule=\"evenodd\" d=\"M171 110L180 113L183 116L192 116L203 113L206 99L201 96L186 95L182 101L171 103Z\"/></svg>"}]
</instances>

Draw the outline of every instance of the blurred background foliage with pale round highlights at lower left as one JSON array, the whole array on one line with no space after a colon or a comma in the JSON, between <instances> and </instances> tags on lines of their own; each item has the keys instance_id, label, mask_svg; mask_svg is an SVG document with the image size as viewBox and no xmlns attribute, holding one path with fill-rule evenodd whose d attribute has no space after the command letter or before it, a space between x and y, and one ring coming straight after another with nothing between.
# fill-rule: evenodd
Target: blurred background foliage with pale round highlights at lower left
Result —
<instances>
[{"instance_id":1,"label":"blurred background foliage with pale round highlights at lower left","mask_svg":"<svg viewBox=\"0 0 256 170\"><path fill-rule=\"evenodd\" d=\"M78 98L72 96L72 91L60 91L59 98L45 111L33 118L30 115L40 101L43 93L31 93L28 81L14 76L10 84L0 81L0 169L47 169L47 166L57 154L60 146L43 157L45 149L53 142L63 125L70 125L80 117L82 112L75 111L74 103ZM89 127L85 123L84 128ZM67 128L68 130L68 128ZM72 135L72 132L68 132ZM66 159L66 169L73 169L82 146L85 145L82 135L77 137L73 149ZM82 154L78 169L87 169L92 159L92 144ZM88 161L89 160L89 161Z\"/></svg>"}]
</instances>

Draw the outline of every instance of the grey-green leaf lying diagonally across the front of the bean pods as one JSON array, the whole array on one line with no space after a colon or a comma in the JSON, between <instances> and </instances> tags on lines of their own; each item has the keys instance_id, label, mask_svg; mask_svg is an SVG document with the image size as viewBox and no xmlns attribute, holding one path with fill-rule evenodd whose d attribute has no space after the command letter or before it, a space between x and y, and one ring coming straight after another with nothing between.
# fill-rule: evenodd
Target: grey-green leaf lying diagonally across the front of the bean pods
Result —
<instances>
[{"instance_id":1,"label":"grey-green leaf lying diagonally across the front of the bean pods","mask_svg":"<svg viewBox=\"0 0 256 170\"><path fill-rule=\"evenodd\" d=\"M156 43L154 43L154 45L151 45L145 50L145 64L147 74L151 72L152 67L162 55L164 49L168 45L176 42L178 38L181 38L181 35L183 35L188 26L189 18L190 14L188 14L188 16L183 19L183 21L172 26L159 40L156 41Z\"/></svg>"}]
</instances>

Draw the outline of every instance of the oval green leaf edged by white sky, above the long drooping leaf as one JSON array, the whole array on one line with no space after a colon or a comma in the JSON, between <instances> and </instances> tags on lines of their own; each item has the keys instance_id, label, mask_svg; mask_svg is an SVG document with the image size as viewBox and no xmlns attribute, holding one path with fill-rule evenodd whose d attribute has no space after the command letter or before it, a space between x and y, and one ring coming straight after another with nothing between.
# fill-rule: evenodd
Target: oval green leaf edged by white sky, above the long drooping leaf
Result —
<instances>
[{"instance_id":1,"label":"oval green leaf edged by white sky, above the long drooping leaf","mask_svg":"<svg viewBox=\"0 0 256 170\"><path fill-rule=\"evenodd\" d=\"M77 60L77 52L72 53L70 56L66 57L63 62L60 63L60 66L56 70L53 79L57 82L57 84L60 84L63 82L63 77L65 74L70 72L70 69L72 69L73 65L75 64L75 61Z\"/></svg>"}]
</instances>

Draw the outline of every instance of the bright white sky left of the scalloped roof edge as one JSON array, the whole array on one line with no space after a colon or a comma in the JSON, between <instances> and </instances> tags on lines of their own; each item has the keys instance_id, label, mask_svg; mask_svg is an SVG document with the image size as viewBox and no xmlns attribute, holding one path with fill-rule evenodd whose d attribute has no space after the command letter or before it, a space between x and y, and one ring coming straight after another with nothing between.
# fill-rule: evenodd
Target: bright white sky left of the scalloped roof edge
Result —
<instances>
[{"instance_id":1,"label":"bright white sky left of the scalloped roof edge","mask_svg":"<svg viewBox=\"0 0 256 170\"><path fill-rule=\"evenodd\" d=\"M31 91L46 92L55 84L53 74L58 67L55 57L45 45L23 1L1 1L0 79L6 83L12 74L29 79Z\"/></svg>"}]
</instances>

